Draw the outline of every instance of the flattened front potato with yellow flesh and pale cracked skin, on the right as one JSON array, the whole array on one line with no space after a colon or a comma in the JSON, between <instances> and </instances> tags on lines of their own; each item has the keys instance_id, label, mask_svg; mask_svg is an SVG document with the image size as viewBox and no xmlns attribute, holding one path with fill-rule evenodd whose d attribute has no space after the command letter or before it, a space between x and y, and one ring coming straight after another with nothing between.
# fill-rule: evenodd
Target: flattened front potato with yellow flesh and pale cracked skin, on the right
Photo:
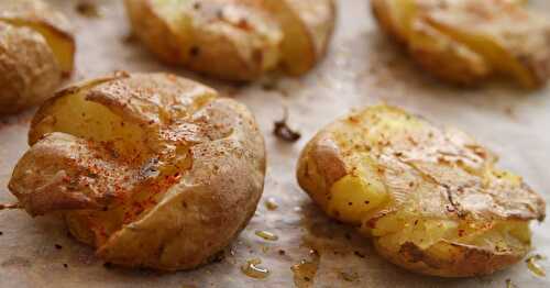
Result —
<instances>
[{"instance_id":1,"label":"flattened front potato with yellow flesh and pale cracked skin, on the right","mask_svg":"<svg viewBox=\"0 0 550 288\"><path fill-rule=\"evenodd\" d=\"M416 273L466 277L517 263L546 204L496 156L452 129L387 106L322 129L302 151L300 186L330 217Z\"/></svg>"}]
</instances>

